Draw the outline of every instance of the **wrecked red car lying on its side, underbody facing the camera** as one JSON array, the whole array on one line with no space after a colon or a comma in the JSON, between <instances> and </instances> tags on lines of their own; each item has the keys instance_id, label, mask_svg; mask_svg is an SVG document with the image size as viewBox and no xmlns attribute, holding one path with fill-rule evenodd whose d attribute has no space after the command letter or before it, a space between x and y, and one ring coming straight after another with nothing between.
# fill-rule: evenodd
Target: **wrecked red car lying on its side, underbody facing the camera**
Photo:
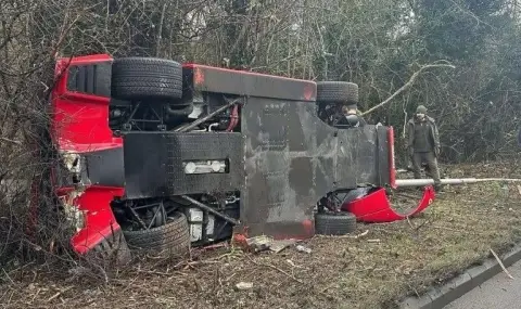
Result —
<instances>
[{"instance_id":1,"label":"wrecked red car lying on its side, underbody facing the camera","mask_svg":"<svg viewBox=\"0 0 521 309\"><path fill-rule=\"evenodd\" d=\"M308 239L389 208L338 199L394 185L392 128L339 107L355 83L105 54L60 59L55 76L53 184L78 254Z\"/></svg>"}]
</instances>

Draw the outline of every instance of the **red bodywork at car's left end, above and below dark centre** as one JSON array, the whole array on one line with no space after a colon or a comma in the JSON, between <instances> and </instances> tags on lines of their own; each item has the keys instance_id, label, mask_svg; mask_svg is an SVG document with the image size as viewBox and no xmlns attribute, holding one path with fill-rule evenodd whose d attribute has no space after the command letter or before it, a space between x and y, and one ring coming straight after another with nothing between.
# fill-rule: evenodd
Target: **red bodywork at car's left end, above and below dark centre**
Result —
<instances>
[{"instance_id":1,"label":"red bodywork at car's left end, above and below dark centre","mask_svg":"<svg viewBox=\"0 0 521 309\"><path fill-rule=\"evenodd\" d=\"M68 67L111 62L109 55L90 55L61 59L56 63L58 85L52 92L51 137L60 152L76 154L122 147L120 138L114 138L109 127L111 99L67 90ZM59 196L68 199L85 215L85 227L72 239L74 249L84 254L104 237L120 229L111 209L114 196L124 194L123 188L87 185L78 189L56 188Z\"/></svg>"}]
</instances>

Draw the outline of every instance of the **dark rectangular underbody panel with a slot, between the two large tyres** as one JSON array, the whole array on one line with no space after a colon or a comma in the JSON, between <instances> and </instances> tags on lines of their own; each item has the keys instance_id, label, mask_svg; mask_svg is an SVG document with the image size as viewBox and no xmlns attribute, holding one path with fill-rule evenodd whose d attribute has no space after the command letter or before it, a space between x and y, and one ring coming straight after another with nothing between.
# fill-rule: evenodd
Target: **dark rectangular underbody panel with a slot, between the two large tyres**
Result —
<instances>
[{"instance_id":1,"label":"dark rectangular underbody panel with a slot, between the two large tyres","mask_svg":"<svg viewBox=\"0 0 521 309\"><path fill-rule=\"evenodd\" d=\"M243 188L241 133L129 132L124 139L127 198L241 191ZM193 160L226 160L227 172L185 173L183 163Z\"/></svg>"}]
</instances>

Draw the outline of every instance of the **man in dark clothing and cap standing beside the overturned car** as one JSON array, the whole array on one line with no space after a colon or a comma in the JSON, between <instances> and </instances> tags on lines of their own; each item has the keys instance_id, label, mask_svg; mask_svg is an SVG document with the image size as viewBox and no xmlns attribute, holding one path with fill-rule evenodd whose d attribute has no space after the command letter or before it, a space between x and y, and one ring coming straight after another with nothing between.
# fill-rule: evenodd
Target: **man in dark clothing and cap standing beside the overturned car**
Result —
<instances>
[{"instance_id":1,"label":"man in dark clothing and cap standing beside the overturned car","mask_svg":"<svg viewBox=\"0 0 521 309\"><path fill-rule=\"evenodd\" d=\"M415 178L420 178L421 164L427 163L434 179L434 189L441 190L437 157L440 156L440 134L434 119L427 116L427 107L419 105L416 115L407 126L407 151L412 160Z\"/></svg>"}]
</instances>

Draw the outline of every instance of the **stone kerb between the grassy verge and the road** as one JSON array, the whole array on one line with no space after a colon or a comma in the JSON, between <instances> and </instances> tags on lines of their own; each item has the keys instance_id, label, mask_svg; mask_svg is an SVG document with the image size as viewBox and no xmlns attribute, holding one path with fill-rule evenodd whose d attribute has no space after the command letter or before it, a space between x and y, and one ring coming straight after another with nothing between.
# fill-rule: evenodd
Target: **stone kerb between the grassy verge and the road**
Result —
<instances>
[{"instance_id":1,"label":"stone kerb between the grassy verge and the road","mask_svg":"<svg viewBox=\"0 0 521 309\"><path fill-rule=\"evenodd\" d=\"M505 267L521 259L521 244L516 245L509 253L500 257ZM443 286L431 287L420 297L408 297L399 305L401 309L441 309L472 288L501 272L503 269L495 258L486 259L483 265L472 267L462 274L454 278Z\"/></svg>"}]
</instances>

